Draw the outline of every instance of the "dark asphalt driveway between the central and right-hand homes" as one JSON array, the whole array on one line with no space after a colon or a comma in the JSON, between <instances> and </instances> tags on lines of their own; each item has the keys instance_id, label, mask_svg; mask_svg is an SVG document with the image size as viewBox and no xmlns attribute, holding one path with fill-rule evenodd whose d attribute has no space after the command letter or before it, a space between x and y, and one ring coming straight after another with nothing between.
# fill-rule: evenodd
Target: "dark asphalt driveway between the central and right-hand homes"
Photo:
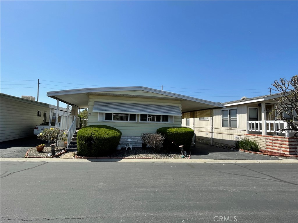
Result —
<instances>
[{"instance_id":1,"label":"dark asphalt driveway between the central and right-hand homes","mask_svg":"<svg viewBox=\"0 0 298 223\"><path fill-rule=\"evenodd\" d=\"M241 153L234 150L226 150L220 147L196 142L195 148L190 148L191 159L222 159L222 160L279 160L271 156Z\"/></svg>"}]
</instances>

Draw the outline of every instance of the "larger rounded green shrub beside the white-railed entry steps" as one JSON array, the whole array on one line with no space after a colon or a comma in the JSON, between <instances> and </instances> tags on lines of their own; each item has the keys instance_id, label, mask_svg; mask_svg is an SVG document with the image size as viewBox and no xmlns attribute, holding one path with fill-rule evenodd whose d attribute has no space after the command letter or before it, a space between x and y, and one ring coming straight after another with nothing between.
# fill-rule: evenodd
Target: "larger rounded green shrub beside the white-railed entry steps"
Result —
<instances>
[{"instance_id":1,"label":"larger rounded green shrub beside the white-railed entry steps","mask_svg":"<svg viewBox=\"0 0 298 223\"><path fill-rule=\"evenodd\" d=\"M115 150L120 142L121 131L107 125L89 125L77 132L79 156L103 156Z\"/></svg>"}]
</instances>

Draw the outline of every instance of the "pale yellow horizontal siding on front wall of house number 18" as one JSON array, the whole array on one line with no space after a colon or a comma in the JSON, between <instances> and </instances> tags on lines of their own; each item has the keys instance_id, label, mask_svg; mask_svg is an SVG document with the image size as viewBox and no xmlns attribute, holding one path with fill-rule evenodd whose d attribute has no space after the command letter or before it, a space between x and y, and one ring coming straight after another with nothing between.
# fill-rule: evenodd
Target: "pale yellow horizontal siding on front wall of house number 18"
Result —
<instances>
[{"instance_id":1,"label":"pale yellow horizontal siding on front wall of house number 18","mask_svg":"<svg viewBox=\"0 0 298 223\"><path fill-rule=\"evenodd\" d=\"M88 111L93 110L93 105L95 101L175 105L175 106L179 106L181 110L181 102L179 100L90 95ZM181 126L181 116L174 116L173 123L139 122L139 115L137 115L136 122L115 122L115 121L98 121L98 112L89 112L89 113L91 113L91 115L88 115L88 125L112 126L114 128L119 129L122 132L122 136L141 136L141 134L145 132L156 133L156 130L161 127Z\"/></svg>"}]
</instances>

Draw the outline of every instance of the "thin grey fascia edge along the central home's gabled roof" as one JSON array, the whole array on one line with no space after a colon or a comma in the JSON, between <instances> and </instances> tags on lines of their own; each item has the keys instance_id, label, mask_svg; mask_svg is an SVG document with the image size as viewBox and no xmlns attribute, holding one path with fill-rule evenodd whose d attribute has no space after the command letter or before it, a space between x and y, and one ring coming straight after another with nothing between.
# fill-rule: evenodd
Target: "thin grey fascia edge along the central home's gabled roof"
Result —
<instances>
[{"instance_id":1,"label":"thin grey fascia edge along the central home's gabled roof","mask_svg":"<svg viewBox=\"0 0 298 223\"><path fill-rule=\"evenodd\" d=\"M62 91L50 91L47 92L47 96L51 98L55 98L55 95L68 95L68 94L84 94L84 93L92 93L92 92L114 92L114 91L147 91L151 93L157 93L161 95L167 95L174 98L184 99L184 100L191 100L199 103L208 104L210 106L217 106L224 108L225 106L221 103L216 103L212 101L207 101L199 98L193 98L185 95L179 95L172 92L162 91L162 90L156 90L149 87L142 87L142 86L136 86L136 87L100 87L100 88L81 88L81 89L70 89L70 90L62 90Z\"/></svg>"}]
</instances>

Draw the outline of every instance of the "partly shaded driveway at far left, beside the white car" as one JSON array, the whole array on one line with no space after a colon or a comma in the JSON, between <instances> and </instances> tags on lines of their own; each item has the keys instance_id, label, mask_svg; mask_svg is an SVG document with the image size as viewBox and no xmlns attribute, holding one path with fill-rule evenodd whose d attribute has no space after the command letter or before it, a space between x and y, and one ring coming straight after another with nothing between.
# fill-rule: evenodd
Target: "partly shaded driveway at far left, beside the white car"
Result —
<instances>
[{"instance_id":1,"label":"partly shaded driveway at far left, beside the white car","mask_svg":"<svg viewBox=\"0 0 298 223\"><path fill-rule=\"evenodd\" d=\"M37 136L35 135L27 138L1 142L0 157L24 158L28 149L39 144L41 144L41 140L37 139Z\"/></svg>"}]
</instances>

